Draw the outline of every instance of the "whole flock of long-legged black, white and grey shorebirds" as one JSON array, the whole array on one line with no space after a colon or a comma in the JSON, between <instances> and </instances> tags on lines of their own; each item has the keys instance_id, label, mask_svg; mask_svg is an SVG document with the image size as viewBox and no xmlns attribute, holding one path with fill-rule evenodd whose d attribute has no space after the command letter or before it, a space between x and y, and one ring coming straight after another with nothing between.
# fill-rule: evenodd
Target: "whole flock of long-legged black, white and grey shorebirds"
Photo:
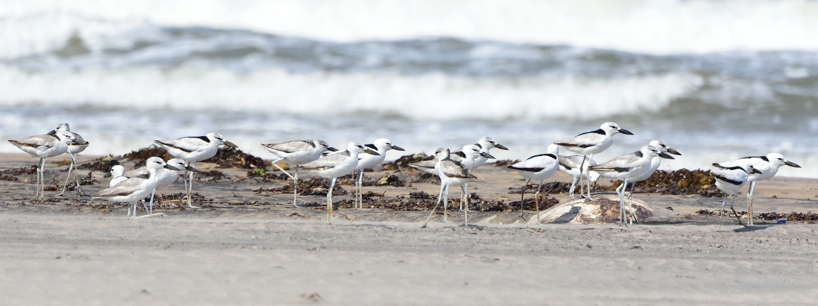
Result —
<instances>
[{"instance_id":1,"label":"whole flock of long-legged black, white and grey shorebirds","mask_svg":"<svg viewBox=\"0 0 818 306\"><path fill-rule=\"evenodd\" d=\"M652 140L649 144L642 146L633 153L625 154L613 159L597 163L593 156L602 153L613 144L613 135L633 135L630 131L620 128L616 123L605 122L596 131L588 131L574 136L567 140L556 141L550 144L546 153L528 157L528 159L517 162L508 168L519 171L519 174L528 181L522 188L521 197L525 197L525 189L531 180L539 180L535 199L537 199L537 216L539 216L539 193L542 183L557 170L564 171L573 177L573 182L569 190L569 196L574 197L574 189L579 183L581 197L590 201L599 201L591 197L591 183L596 183L600 177L622 180L622 184L616 189L619 196L619 224L631 226L633 221L639 221L636 212L631 206L631 196L633 188L637 182L647 180L653 175L660 165L662 158L673 159L670 154L681 156L681 153L667 146L660 140ZM61 123L56 128L45 135L34 135L21 140L8 140L17 148L40 158L37 167L37 190L36 197L44 197L43 169L47 157L55 157L63 153L68 153L71 157L71 164L65 184L58 196L65 193L65 188L70 180L71 171L76 164L75 155L88 148L88 142L83 137L70 131L68 123ZM176 140L154 140L160 148L166 150L173 159L164 161L160 157L150 157L146 160L146 165L125 171L123 166L114 166L110 171L109 188L94 193L94 198L104 198L112 202L128 202L128 217L144 218L149 216L164 216L163 213L153 212L153 197L155 189L178 180L182 170L185 188L187 191L187 207L196 208L191 203L191 193L193 190L193 174L200 172L196 169L196 162L204 161L216 155L218 148L222 145L238 148L236 144L224 139L217 133L209 133L204 136L182 137ZM273 166L286 175L289 175L294 183L293 205L298 206L298 177L299 170L309 171L312 176L320 176L330 179L329 192L326 193L327 220L333 222L332 190L335 188L335 180L340 176L357 172L355 184L355 209L362 209L361 186L363 170L384 162L386 152L389 150L404 151L404 149L392 144L387 139L375 140L373 144L361 144L350 142L344 151L330 147L323 140L294 140L279 144L262 144L264 149L278 157L272 162ZM560 155L560 147L579 155ZM447 222L447 205L449 187L452 185L461 187L461 211L465 212L465 223L468 224L469 193L468 184L476 179L471 171L485 164L488 159L494 158L489 150L508 150L505 146L497 144L489 137L483 137L477 144L467 144L456 151L450 149L437 149L434 153L433 161L416 162L410 166L419 171L425 171L438 175L441 180L438 202L434 206L429 218L424 226L429 223L429 219L434 215L438 205L443 202L443 222ZM292 168L294 173L282 169L276 162L284 161ZM766 180L778 171L780 166L800 167L793 162L789 162L781 154L770 153L766 156L743 157L730 162L714 163L717 172L716 186L724 192L721 201L721 211L724 211L726 197L732 196L730 210L735 214L733 204L735 195L745 184L750 183L748 190L748 213L753 213L753 189L759 180ZM75 175L76 176L76 175ZM625 192L627 185L631 184L626 206ZM79 188L79 176L77 177L76 190L80 197L83 190ZM151 195L151 202L146 206L146 215L137 216L137 202ZM464 206L465 203L465 206ZM523 202L524 203L524 202ZM630 211L630 215L627 214ZM739 224L741 219L735 214ZM524 211L521 204L520 217L524 218ZM753 224L753 218L749 218L749 224ZM721 225L721 217L719 219Z\"/></svg>"}]
</instances>

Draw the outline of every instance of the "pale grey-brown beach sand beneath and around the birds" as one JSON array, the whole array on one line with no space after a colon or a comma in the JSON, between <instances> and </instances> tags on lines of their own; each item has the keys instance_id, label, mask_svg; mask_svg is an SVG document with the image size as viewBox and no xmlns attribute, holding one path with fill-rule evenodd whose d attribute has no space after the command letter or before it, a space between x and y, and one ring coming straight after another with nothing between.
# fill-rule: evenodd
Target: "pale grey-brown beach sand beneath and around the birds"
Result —
<instances>
[{"instance_id":1,"label":"pale grey-brown beach sand beneath and around the birds","mask_svg":"<svg viewBox=\"0 0 818 306\"><path fill-rule=\"evenodd\" d=\"M0 154L0 170L34 164L23 154ZM47 181L61 180L65 172L56 169L64 168L49 165ZM523 183L515 172L483 166L475 175L483 180L470 190L480 197L519 197L507 193ZM271 204L215 204L165 211L171 220L128 220L124 206L32 204L34 184L0 181L2 304L806 305L818 299L818 225L743 228L726 218L718 230L717 217L693 214L717 209L716 198L637 194L654 206L672 206L676 218L633 228L515 224L515 212L470 213L478 222L470 228L456 223L462 213L455 212L455 222L418 228L427 212L340 210L335 225L325 224L324 211L291 208L289 195L252 193L264 185L274 186L245 180L195 188L220 202ZM811 211L815 185L789 178L759 183L754 211ZM434 184L411 188L438 191ZM178 183L160 193L182 189ZM387 197L412 191L366 190L386 190ZM737 202L744 205L742 197Z\"/></svg>"}]
</instances>

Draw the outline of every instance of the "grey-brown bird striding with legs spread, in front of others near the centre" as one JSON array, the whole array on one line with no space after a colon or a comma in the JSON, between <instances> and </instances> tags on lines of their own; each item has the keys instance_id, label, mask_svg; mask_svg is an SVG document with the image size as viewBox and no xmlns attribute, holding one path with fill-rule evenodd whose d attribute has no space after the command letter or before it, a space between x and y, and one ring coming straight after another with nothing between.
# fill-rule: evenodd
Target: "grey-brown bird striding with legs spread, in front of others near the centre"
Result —
<instances>
[{"instance_id":1,"label":"grey-brown bird striding with legs spread, in front of others near the centre","mask_svg":"<svg viewBox=\"0 0 818 306\"><path fill-rule=\"evenodd\" d=\"M437 149L434 152L434 157L438 159L438 163L434 166L434 169L437 171L438 176L440 176L440 185L443 189L443 222L448 222L447 205L449 201L449 186L452 184L462 186L463 184L468 183L470 180L477 179L477 177L472 175L469 169L466 169L461 162L452 160L449 149ZM435 204L434 208L432 208L432 212L429 214L429 217L426 218L426 222L423 224L423 226L421 226L422 228L425 228L426 225L429 224L429 219L431 219L432 215L434 215L434 211L438 208L440 200L440 197L438 197L437 204ZM466 202L465 207L465 224L466 226L469 225L468 202Z\"/></svg>"}]
</instances>

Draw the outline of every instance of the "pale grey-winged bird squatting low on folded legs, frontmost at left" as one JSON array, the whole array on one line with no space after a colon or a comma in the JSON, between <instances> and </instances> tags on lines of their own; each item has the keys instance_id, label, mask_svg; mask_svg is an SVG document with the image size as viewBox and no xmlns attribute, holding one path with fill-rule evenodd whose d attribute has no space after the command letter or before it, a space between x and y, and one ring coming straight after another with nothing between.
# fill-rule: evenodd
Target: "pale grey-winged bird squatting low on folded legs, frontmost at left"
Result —
<instances>
[{"instance_id":1,"label":"pale grey-winged bird squatting low on folded legs, frontmost at left","mask_svg":"<svg viewBox=\"0 0 818 306\"><path fill-rule=\"evenodd\" d=\"M160 157L148 158L145 162L145 166L148 171L147 178L131 177L122 180L119 182L119 184L115 184L114 187L103 189L100 192L95 193L92 197L106 198L111 202L127 202L129 204L128 217L133 216L134 218L137 218L137 202L147 197L147 195L151 194L151 191L156 188L156 184L159 181L157 173L160 171L160 169L165 168L173 171L179 171L177 167L168 165ZM131 211L132 207L133 214ZM151 215L143 215L142 217L146 216Z\"/></svg>"}]
</instances>

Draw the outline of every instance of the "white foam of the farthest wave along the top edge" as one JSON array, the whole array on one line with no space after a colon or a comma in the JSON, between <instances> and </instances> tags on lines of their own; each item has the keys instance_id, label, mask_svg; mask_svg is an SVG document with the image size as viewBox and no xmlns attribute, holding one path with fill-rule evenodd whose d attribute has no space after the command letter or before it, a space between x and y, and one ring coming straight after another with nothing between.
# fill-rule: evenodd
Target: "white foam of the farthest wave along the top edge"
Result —
<instances>
[{"instance_id":1,"label":"white foam of the farthest wave along the top edge","mask_svg":"<svg viewBox=\"0 0 818 306\"><path fill-rule=\"evenodd\" d=\"M336 42L431 36L653 54L818 50L818 2L808 0L41 0L0 6L0 16L2 52L17 55L53 47L74 32L92 39L143 22Z\"/></svg>"}]
</instances>

